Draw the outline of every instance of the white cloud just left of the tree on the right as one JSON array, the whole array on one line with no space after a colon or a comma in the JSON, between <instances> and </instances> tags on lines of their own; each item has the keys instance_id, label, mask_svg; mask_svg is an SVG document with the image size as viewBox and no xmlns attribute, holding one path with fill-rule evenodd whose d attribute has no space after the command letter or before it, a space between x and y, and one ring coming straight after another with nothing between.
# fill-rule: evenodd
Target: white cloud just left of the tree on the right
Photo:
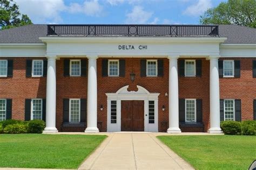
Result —
<instances>
[{"instance_id":1,"label":"white cloud just left of the tree on the right","mask_svg":"<svg viewBox=\"0 0 256 170\"><path fill-rule=\"evenodd\" d=\"M211 7L211 0L198 0L196 4L188 6L183 13L186 15L199 16Z\"/></svg>"}]
</instances>

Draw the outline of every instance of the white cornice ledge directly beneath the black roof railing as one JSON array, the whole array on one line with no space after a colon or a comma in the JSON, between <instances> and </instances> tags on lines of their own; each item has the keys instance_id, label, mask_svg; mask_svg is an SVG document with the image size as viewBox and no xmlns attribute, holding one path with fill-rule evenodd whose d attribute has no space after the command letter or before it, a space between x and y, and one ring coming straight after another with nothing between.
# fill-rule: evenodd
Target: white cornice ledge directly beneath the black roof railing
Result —
<instances>
[{"instance_id":1,"label":"white cornice ledge directly beneath the black roof railing","mask_svg":"<svg viewBox=\"0 0 256 170\"><path fill-rule=\"evenodd\" d=\"M147 43L223 43L226 37L39 37L43 42L147 42Z\"/></svg>"}]
</instances>

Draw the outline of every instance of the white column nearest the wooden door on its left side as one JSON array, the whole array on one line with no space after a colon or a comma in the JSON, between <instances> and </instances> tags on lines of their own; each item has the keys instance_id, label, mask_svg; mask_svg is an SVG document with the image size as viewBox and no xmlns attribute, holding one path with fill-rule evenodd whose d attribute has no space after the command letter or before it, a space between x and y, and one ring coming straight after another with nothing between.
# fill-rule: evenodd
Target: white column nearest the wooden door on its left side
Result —
<instances>
[{"instance_id":1,"label":"white column nearest the wooden door on its left side","mask_svg":"<svg viewBox=\"0 0 256 170\"><path fill-rule=\"evenodd\" d=\"M98 133L97 128L97 57L88 57L87 128L86 133Z\"/></svg>"}]
</instances>

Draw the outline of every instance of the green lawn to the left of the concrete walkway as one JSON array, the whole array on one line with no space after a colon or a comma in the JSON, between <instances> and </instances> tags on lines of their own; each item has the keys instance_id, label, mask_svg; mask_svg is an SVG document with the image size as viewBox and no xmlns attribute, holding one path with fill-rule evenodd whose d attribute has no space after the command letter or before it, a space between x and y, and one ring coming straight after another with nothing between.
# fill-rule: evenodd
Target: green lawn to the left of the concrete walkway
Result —
<instances>
[{"instance_id":1,"label":"green lawn to the left of the concrete walkway","mask_svg":"<svg viewBox=\"0 0 256 170\"><path fill-rule=\"evenodd\" d=\"M0 167L77 168L105 135L1 134Z\"/></svg>"}]
</instances>

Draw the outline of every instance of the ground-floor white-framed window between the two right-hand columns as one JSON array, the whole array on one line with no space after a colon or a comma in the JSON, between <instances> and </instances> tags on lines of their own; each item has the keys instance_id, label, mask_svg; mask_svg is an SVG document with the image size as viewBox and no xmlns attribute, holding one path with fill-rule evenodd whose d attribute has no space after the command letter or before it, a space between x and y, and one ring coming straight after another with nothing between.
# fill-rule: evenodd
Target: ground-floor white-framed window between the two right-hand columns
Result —
<instances>
[{"instance_id":1,"label":"ground-floor white-framed window between the two right-hand columns","mask_svg":"<svg viewBox=\"0 0 256 170\"><path fill-rule=\"evenodd\" d=\"M185 121L196 122L196 99L185 99Z\"/></svg>"}]
</instances>

